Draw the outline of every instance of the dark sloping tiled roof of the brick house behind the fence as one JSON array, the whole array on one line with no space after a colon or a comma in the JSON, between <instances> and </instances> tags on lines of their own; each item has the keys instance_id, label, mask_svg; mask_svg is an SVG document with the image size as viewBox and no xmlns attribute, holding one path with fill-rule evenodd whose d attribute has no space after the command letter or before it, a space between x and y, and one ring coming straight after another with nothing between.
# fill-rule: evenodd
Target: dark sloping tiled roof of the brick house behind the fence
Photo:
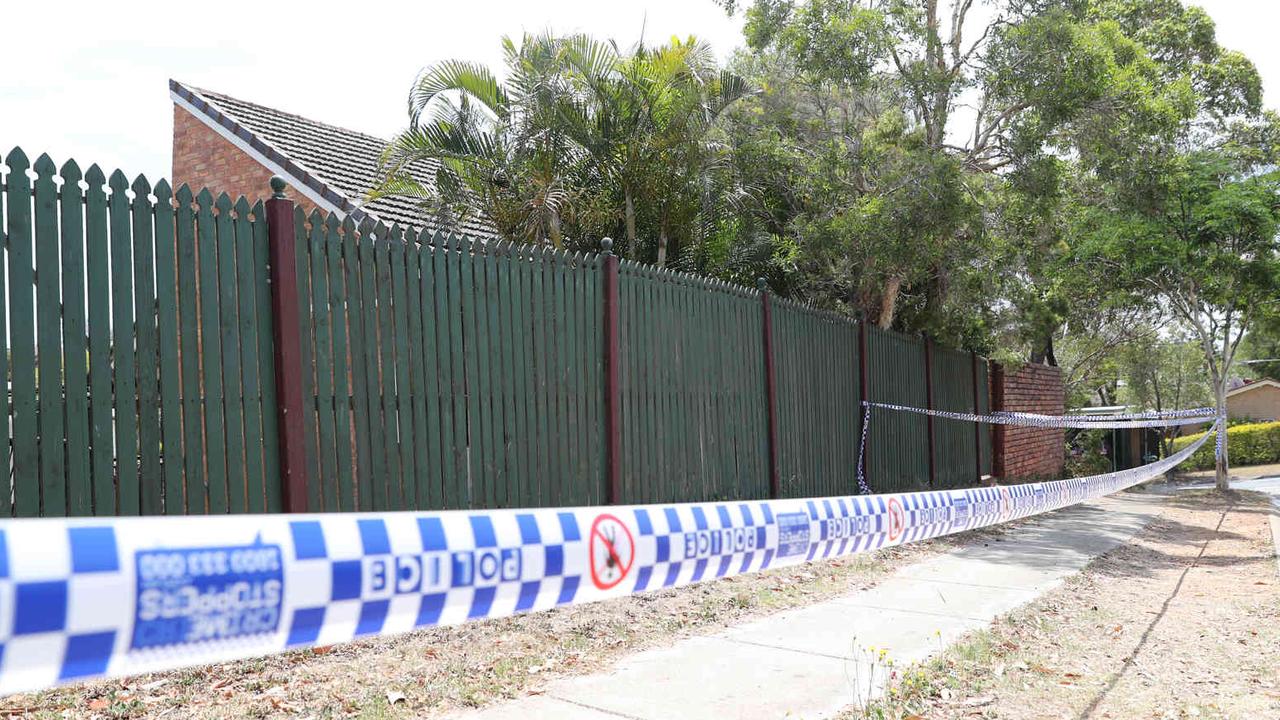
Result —
<instances>
[{"instance_id":1,"label":"dark sloping tiled roof of the brick house behind the fence","mask_svg":"<svg viewBox=\"0 0 1280 720\"><path fill-rule=\"evenodd\" d=\"M189 102L197 111L230 131L239 140L283 167L293 184L306 184L325 200L360 220L369 215L387 224L401 223L412 228L451 231L494 238L497 232L484 218L467 217L457 225L442 225L408 197L379 197L365 201L375 184L378 158L387 142L383 138L346 128L317 123L307 118L238 100L220 92L169 81L169 90ZM438 163L421 163L412 168L424 184L435 181Z\"/></svg>"}]
</instances>

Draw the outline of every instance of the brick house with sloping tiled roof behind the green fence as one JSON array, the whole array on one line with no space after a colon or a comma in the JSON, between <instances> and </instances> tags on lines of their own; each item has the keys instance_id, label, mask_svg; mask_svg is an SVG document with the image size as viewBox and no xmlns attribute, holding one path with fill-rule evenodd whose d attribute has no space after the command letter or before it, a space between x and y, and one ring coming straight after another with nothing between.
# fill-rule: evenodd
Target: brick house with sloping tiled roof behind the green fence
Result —
<instances>
[{"instance_id":1,"label":"brick house with sloping tiled roof behind the green fence","mask_svg":"<svg viewBox=\"0 0 1280 720\"><path fill-rule=\"evenodd\" d=\"M207 187L250 200L270 193L268 181L280 176L289 196L308 213L365 218L415 229L460 232L494 238L497 231L483 218L442 224L411 199L380 197L365 202L378 177L378 158L387 141L365 133L317 123L298 115L246 102L169 81L173 99L173 184ZM434 163L417 168L419 179L434 182Z\"/></svg>"}]
</instances>

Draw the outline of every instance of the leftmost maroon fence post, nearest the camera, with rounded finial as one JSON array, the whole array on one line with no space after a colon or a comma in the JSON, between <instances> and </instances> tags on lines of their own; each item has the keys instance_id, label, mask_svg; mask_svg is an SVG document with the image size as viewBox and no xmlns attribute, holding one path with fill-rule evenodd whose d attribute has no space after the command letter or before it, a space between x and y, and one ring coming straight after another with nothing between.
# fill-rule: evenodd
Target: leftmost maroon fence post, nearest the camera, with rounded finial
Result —
<instances>
[{"instance_id":1,"label":"leftmost maroon fence post, nearest the camera, with rounded finial","mask_svg":"<svg viewBox=\"0 0 1280 720\"><path fill-rule=\"evenodd\" d=\"M271 178L266 201L268 254L271 264L271 334L275 341L275 397L279 418L280 484L287 512L307 511L307 464L302 429L302 340L298 325L298 269L294 255L293 201L284 178Z\"/></svg>"}]
</instances>

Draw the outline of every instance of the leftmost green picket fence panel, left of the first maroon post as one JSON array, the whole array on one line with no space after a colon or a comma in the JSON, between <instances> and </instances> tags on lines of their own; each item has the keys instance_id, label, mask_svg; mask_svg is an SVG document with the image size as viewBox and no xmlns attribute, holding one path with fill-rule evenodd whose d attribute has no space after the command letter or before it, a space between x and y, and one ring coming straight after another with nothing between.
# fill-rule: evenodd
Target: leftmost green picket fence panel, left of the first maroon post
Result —
<instances>
[{"instance_id":1,"label":"leftmost green picket fence panel, left of the first maroon post","mask_svg":"<svg viewBox=\"0 0 1280 720\"><path fill-rule=\"evenodd\" d=\"M0 515L279 510L261 206L5 165Z\"/></svg>"}]
</instances>

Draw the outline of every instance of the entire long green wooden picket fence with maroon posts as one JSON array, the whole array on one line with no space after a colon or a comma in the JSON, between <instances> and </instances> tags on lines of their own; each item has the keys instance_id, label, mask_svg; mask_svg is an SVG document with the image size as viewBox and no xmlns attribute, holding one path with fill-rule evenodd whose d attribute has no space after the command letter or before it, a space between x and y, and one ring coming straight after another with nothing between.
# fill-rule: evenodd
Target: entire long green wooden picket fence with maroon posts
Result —
<instances>
[{"instance_id":1,"label":"entire long green wooden picket fence with maroon posts","mask_svg":"<svg viewBox=\"0 0 1280 720\"><path fill-rule=\"evenodd\" d=\"M5 165L0 516L844 495L864 395L987 410L983 359L755 288L301 209L271 268L285 200ZM275 324L279 273L296 328ZM872 421L876 491L989 471L970 424Z\"/></svg>"}]
</instances>

